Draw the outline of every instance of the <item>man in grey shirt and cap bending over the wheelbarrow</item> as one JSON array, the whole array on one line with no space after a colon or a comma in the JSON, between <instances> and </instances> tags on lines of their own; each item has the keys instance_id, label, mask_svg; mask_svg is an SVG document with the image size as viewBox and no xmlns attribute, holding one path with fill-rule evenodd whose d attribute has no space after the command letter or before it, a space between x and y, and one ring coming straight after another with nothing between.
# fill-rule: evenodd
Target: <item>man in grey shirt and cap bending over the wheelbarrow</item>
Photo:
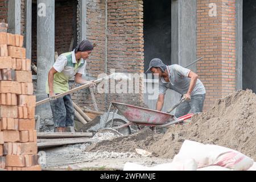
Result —
<instances>
[{"instance_id":1,"label":"man in grey shirt and cap bending over the wheelbarrow","mask_svg":"<svg viewBox=\"0 0 256 182\"><path fill-rule=\"evenodd\" d=\"M161 111L164 104L164 95L167 89L180 93L184 102L177 107L175 116L177 118L192 113L201 113L204 107L205 88L198 79L198 75L180 65L165 65L162 60L156 58L151 60L147 70L159 76L159 97L156 110Z\"/></svg>"}]
</instances>

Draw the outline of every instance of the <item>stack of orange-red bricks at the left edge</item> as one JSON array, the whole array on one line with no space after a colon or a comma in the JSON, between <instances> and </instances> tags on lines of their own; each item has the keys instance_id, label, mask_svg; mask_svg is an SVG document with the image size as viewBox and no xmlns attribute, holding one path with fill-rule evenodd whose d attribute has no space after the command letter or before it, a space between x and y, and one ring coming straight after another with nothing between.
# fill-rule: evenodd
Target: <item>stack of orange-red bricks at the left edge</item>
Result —
<instances>
[{"instance_id":1,"label":"stack of orange-red bricks at the left edge","mask_svg":"<svg viewBox=\"0 0 256 182\"><path fill-rule=\"evenodd\" d=\"M0 168L41 170L35 130L31 60L23 36L0 32Z\"/></svg>"}]
</instances>

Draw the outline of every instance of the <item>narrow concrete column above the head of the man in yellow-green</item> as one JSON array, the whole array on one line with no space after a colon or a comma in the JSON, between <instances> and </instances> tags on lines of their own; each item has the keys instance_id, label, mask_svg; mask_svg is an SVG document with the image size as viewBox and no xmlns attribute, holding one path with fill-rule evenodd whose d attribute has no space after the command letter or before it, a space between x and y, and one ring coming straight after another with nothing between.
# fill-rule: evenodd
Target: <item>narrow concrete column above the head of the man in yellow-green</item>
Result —
<instances>
[{"instance_id":1,"label":"narrow concrete column above the head of the man in yellow-green","mask_svg":"<svg viewBox=\"0 0 256 182\"><path fill-rule=\"evenodd\" d=\"M80 40L86 39L86 14L87 14L87 6L86 6L87 1L86 0L81 0L81 8L80 8Z\"/></svg>"}]
</instances>

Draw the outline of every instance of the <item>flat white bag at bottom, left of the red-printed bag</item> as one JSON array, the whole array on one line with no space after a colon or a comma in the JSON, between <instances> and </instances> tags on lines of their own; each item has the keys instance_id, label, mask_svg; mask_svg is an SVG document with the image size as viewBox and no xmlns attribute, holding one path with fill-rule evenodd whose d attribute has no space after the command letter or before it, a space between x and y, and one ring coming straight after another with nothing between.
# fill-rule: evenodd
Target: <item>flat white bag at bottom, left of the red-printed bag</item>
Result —
<instances>
[{"instance_id":1,"label":"flat white bag at bottom, left of the red-printed bag","mask_svg":"<svg viewBox=\"0 0 256 182\"><path fill-rule=\"evenodd\" d=\"M154 167L146 167L135 163L126 163L123 171L196 171L195 160L185 160L183 162L159 164Z\"/></svg>"}]
</instances>

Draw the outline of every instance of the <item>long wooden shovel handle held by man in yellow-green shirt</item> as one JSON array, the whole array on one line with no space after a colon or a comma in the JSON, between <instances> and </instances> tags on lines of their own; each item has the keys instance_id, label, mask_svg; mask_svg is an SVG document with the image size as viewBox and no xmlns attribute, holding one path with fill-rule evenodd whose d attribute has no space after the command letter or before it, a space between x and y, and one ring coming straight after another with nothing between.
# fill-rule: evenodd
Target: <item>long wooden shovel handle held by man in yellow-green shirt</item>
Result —
<instances>
[{"instance_id":1,"label":"long wooden shovel handle held by man in yellow-green shirt","mask_svg":"<svg viewBox=\"0 0 256 182\"><path fill-rule=\"evenodd\" d=\"M94 82L95 84L98 84L98 83L100 83L100 82L103 81L103 80L108 80L108 79L112 78L113 76L115 76L115 74L106 76L106 77L104 77L104 78L100 78L100 79L95 80L95 81L93 81L93 82ZM84 84L84 85L78 86L78 87L75 88L75 89L71 89L71 90L69 90L68 92L64 92L64 93L58 94L58 95L56 96L56 98L60 98L60 97L63 97L63 96L67 96L68 94L74 93L74 92L76 92L76 91L78 91L78 90L88 88L88 87L90 86L90 84L91 84L91 82L88 82L88 84ZM49 98L46 98L45 100L36 102L36 106L45 104L45 103L47 103L47 102L49 102L49 101L50 101Z\"/></svg>"}]
</instances>

